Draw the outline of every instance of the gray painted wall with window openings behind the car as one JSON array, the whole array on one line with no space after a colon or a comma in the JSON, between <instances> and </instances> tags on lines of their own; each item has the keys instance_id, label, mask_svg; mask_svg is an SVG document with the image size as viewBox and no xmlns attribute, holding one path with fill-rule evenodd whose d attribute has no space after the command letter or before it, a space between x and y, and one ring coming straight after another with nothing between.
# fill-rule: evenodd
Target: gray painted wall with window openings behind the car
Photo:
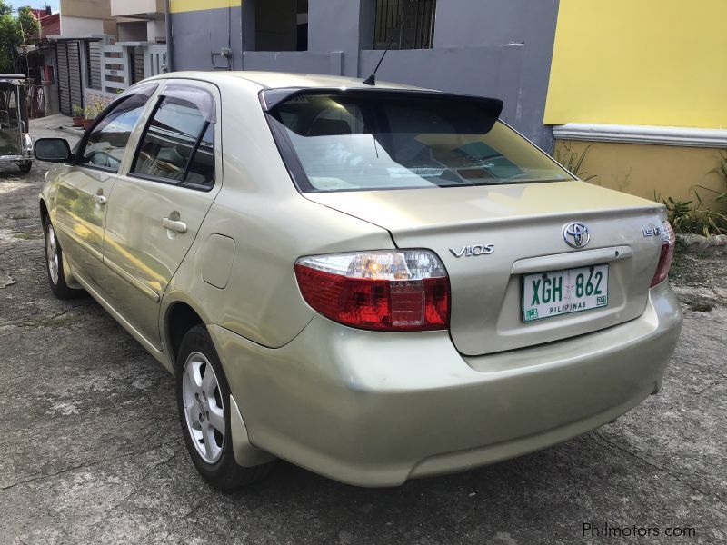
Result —
<instances>
[{"instance_id":1,"label":"gray painted wall with window openings behind the car","mask_svg":"<svg viewBox=\"0 0 727 545\"><path fill-rule=\"evenodd\" d=\"M255 10L269 1L173 14L174 69L214 69L210 53L229 44L229 66L236 70L365 77L383 53L371 49L375 0L311 0L307 52L254 51L256 34L264 32L255 29ZM437 0L433 49L390 51L379 79L502 98L503 119L550 149L543 113L558 2ZM258 25L269 20L269 7L263 9ZM215 55L214 64L226 68L228 61Z\"/></svg>"}]
</instances>

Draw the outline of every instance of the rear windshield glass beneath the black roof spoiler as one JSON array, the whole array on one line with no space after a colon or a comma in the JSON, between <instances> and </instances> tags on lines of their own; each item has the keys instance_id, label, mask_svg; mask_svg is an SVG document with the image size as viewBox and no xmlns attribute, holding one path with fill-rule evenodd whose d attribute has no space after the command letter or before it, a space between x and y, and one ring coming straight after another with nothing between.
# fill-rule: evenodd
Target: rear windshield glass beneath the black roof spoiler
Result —
<instances>
[{"instance_id":1,"label":"rear windshield glass beneath the black roof spoiler","mask_svg":"<svg viewBox=\"0 0 727 545\"><path fill-rule=\"evenodd\" d=\"M303 94L269 115L303 192L573 179L478 99Z\"/></svg>"}]
</instances>

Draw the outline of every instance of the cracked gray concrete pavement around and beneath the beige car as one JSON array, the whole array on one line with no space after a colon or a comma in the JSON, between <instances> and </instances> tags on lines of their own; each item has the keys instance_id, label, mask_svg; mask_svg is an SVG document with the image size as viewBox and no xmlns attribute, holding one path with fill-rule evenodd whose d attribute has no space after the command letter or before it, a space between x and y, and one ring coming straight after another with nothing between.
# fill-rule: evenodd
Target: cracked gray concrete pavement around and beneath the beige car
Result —
<instances>
[{"instance_id":1,"label":"cracked gray concrete pavement around and beneath the beige car","mask_svg":"<svg viewBox=\"0 0 727 545\"><path fill-rule=\"evenodd\" d=\"M48 290L44 172L0 172L0 544L630 541L583 538L584 522L727 542L727 256L680 258L685 321L662 393L600 431L394 489L279 462L222 494L184 451L171 377L93 300Z\"/></svg>"}]
</instances>

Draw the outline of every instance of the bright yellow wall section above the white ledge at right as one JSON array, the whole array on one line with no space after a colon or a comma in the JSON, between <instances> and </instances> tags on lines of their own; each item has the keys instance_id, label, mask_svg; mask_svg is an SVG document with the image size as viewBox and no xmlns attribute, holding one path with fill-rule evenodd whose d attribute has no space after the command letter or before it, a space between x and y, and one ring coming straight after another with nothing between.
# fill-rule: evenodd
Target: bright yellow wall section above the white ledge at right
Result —
<instances>
[{"instance_id":1,"label":"bright yellow wall section above the white ledge at right","mask_svg":"<svg viewBox=\"0 0 727 545\"><path fill-rule=\"evenodd\" d=\"M545 124L727 128L727 0L561 0Z\"/></svg>"}]
</instances>

